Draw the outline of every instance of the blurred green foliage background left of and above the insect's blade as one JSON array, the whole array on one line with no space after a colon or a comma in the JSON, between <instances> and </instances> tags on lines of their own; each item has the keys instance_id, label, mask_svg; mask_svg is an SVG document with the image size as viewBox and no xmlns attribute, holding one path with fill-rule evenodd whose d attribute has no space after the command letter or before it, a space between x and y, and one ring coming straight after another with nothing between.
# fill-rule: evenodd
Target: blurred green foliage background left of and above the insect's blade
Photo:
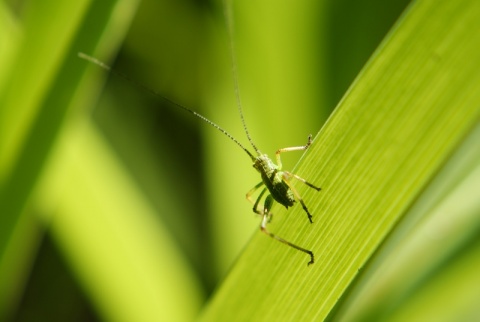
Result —
<instances>
[{"instance_id":1,"label":"blurred green foliage background left of and above the insect's blade","mask_svg":"<svg viewBox=\"0 0 480 322\"><path fill-rule=\"evenodd\" d=\"M270 155L318 132L408 5L238 2L245 117ZM225 276L259 224L244 200L258 182L250 160L77 57L109 62L246 142L223 10L200 0L1 3L2 318L188 320Z\"/></svg>"}]
</instances>

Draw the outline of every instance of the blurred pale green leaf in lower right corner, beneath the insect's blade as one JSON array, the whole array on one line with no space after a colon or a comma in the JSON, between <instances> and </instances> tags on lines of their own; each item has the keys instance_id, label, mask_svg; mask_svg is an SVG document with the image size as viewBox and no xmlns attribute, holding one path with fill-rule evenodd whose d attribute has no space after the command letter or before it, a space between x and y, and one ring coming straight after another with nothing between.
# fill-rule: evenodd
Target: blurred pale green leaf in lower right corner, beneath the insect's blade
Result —
<instances>
[{"instance_id":1,"label":"blurred pale green leaf in lower right corner, beneath the insect's blade","mask_svg":"<svg viewBox=\"0 0 480 322\"><path fill-rule=\"evenodd\" d=\"M342 320L405 319L406 314L422 320L420 314L430 314L429 319L451 321L477 311L471 302L478 290L469 286L479 282L473 273L480 225L479 140L476 126L358 278L337 314Z\"/></svg>"}]
</instances>

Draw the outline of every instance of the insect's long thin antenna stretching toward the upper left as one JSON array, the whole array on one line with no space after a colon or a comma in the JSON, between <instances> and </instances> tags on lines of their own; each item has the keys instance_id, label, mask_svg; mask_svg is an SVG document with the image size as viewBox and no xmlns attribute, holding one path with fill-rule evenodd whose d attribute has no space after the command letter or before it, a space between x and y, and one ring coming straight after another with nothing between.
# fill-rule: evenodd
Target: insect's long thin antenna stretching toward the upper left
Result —
<instances>
[{"instance_id":1,"label":"insect's long thin antenna stretching toward the upper left","mask_svg":"<svg viewBox=\"0 0 480 322\"><path fill-rule=\"evenodd\" d=\"M241 147L247 154L248 156L254 161L255 160L255 157L253 156L253 154L247 150L247 148L245 148L237 139L235 139L230 133L228 133L227 131L225 131L224 129L222 129L220 127L220 125L210 121L209 119L207 119L205 116L201 115L201 114L198 114L197 112L189 109L188 107L186 106L183 106L179 103L176 103L164 96L162 96L160 93L158 93L157 91L153 90L152 88L150 87L147 87L133 79L131 79L130 77L128 77L127 75L125 74L122 74L118 71L116 71L115 69L113 69L112 67L108 66L107 64L105 64L104 62L96 59L95 57L92 57L92 56L89 56L87 54L84 54L82 52L79 52L78 53L78 57L82 58L82 59L85 59L86 61L89 61L105 70L107 70L109 73L111 73L112 75L114 76L117 76L117 77L120 77L122 79L124 79L125 81L129 82L129 83L132 83L133 85L143 89L144 91L152 94L153 96L155 97L161 97L163 100L165 100L166 102L172 104L172 105L175 105L179 108L181 108L182 110L186 111L186 112L189 112L190 114L198 117L199 119L203 120L204 122L210 124L211 126L213 126L214 128L216 128L217 130L219 130L220 132L222 132L223 134L225 134L230 140L232 140L233 142L235 142L239 147ZM254 146L255 148L255 146Z\"/></svg>"}]
</instances>

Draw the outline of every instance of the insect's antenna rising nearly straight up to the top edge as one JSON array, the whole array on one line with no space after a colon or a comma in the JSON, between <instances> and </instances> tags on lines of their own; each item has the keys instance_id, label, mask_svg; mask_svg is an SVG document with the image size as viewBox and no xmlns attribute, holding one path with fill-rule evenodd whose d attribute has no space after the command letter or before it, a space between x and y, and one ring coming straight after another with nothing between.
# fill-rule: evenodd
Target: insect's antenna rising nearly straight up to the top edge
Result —
<instances>
[{"instance_id":1,"label":"insect's antenna rising nearly straight up to the top edge","mask_svg":"<svg viewBox=\"0 0 480 322\"><path fill-rule=\"evenodd\" d=\"M232 13L232 1L225 0L224 1L224 13L225 13L225 20L227 24L227 31L229 36L230 42L230 58L232 64L232 74L233 74L233 83L235 87L235 99L237 101L237 108L238 113L240 114L240 119L242 120L243 129L245 134L247 135L248 141L252 145L253 149L257 154L261 154L258 150L255 143L253 143L252 138L250 137L250 132L248 132L247 123L245 122L245 118L243 117L243 109L242 109L242 101L240 99L240 88L238 85L238 72L237 72L237 56L235 55L235 42L233 40L233 13Z\"/></svg>"}]
</instances>

